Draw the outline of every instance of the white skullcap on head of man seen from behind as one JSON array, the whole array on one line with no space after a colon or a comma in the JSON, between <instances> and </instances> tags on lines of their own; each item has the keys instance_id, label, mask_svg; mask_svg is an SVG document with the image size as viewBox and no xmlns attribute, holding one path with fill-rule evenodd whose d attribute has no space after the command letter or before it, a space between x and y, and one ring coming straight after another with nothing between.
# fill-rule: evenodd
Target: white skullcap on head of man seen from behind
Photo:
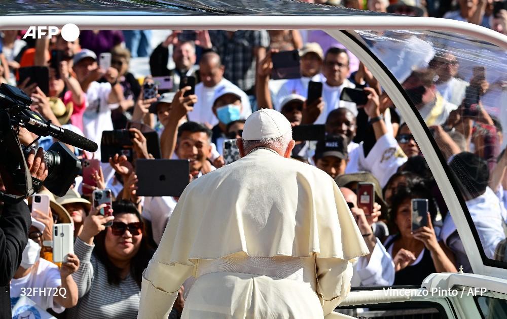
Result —
<instances>
[{"instance_id":1,"label":"white skullcap on head of man seen from behind","mask_svg":"<svg viewBox=\"0 0 507 319\"><path fill-rule=\"evenodd\" d=\"M248 116L241 138L247 141L267 140L291 130L291 123L280 112L262 108Z\"/></svg>"}]
</instances>

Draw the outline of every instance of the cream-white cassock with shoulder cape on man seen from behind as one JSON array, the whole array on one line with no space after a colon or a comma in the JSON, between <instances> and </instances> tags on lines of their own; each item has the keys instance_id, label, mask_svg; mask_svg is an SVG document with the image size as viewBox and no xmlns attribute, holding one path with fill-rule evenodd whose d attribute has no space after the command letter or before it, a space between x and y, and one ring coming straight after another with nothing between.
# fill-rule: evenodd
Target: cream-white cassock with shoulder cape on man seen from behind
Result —
<instances>
[{"instance_id":1,"label":"cream-white cassock with shoulder cape on man seen from behind","mask_svg":"<svg viewBox=\"0 0 507 319\"><path fill-rule=\"evenodd\" d=\"M322 318L367 254L328 174L257 149L187 186L143 273L138 318L167 318L189 276L182 318Z\"/></svg>"}]
</instances>

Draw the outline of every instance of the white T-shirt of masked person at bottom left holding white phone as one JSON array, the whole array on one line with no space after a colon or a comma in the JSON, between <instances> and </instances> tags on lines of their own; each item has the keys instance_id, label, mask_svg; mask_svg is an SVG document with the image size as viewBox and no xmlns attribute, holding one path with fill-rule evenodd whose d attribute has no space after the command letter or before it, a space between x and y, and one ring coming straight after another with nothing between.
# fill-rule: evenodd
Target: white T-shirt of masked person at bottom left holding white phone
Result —
<instances>
[{"instance_id":1,"label":"white T-shirt of masked person at bottom left holding white phone","mask_svg":"<svg viewBox=\"0 0 507 319\"><path fill-rule=\"evenodd\" d=\"M22 293L28 294L30 291L27 288L47 289L46 292L48 292L50 288L58 288L61 285L62 281L58 266L40 258L37 269L24 277L11 280L11 299L19 298ZM54 295L55 289L51 289L51 293L35 293L30 295L29 298L43 309L52 308L56 313L61 313L65 308L55 303Z\"/></svg>"}]
</instances>

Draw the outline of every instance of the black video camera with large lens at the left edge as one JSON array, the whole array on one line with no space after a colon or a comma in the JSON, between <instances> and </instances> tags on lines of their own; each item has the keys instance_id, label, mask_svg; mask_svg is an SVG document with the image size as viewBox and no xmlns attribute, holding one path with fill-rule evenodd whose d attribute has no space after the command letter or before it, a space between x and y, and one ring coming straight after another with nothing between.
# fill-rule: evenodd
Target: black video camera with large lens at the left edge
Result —
<instances>
[{"instance_id":1,"label":"black video camera with large lens at the left edge","mask_svg":"<svg viewBox=\"0 0 507 319\"><path fill-rule=\"evenodd\" d=\"M46 180L41 182L31 177L26 156L32 147L21 145L17 135L19 128L24 127L39 136L54 136L55 130L66 133L33 112L29 108L31 103L30 97L20 89L0 85L0 174L6 188L6 193L0 192L0 198L5 202L19 202L37 192L43 184L55 195L63 196L81 169L76 155L65 144L56 142L44 151L44 162L48 168Z\"/></svg>"}]
</instances>

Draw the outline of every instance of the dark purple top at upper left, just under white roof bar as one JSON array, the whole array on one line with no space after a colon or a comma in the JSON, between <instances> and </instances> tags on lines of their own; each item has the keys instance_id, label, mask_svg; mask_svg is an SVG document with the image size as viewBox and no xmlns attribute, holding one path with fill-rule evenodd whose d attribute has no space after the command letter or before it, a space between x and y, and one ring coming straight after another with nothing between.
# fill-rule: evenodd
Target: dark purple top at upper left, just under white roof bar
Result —
<instances>
[{"instance_id":1,"label":"dark purple top at upper left, just under white roof bar","mask_svg":"<svg viewBox=\"0 0 507 319\"><path fill-rule=\"evenodd\" d=\"M111 50L123 42L123 33L119 30L100 30L97 34L92 30L83 30L79 35L81 48L89 49L98 55Z\"/></svg>"}]
</instances>

